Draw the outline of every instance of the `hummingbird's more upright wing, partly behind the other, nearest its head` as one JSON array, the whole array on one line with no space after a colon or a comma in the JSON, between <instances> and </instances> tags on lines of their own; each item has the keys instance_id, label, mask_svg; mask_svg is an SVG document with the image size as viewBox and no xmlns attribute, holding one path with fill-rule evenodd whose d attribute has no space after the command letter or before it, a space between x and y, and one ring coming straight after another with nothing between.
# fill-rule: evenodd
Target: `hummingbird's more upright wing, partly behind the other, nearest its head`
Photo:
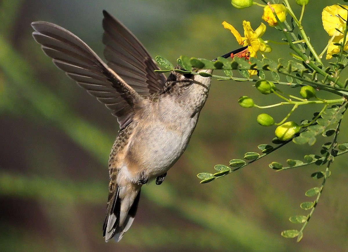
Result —
<instances>
[{"instance_id":1,"label":"hummingbird's more upright wing, partly behind the other, nearest its head","mask_svg":"<svg viewBox=\"0 0 348 252\"><path fill-rule=\"evenodd\" d=\"M166 77L140 43L140 41L117 19L103 10L104 57L129 86L143 96L158 92L163 88Z\"/></svg>"}]
</instances>

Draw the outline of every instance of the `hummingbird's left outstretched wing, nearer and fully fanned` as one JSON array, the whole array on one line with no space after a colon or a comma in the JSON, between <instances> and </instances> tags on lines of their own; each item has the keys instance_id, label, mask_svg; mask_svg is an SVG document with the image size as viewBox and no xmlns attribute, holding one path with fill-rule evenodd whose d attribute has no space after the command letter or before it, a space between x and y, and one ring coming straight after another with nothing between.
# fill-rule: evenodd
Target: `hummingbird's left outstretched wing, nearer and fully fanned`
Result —
<instances>
[{"instance_id":1,"label":"hummingbird's left outstretched wing, nearer and fully fanned","mask_svg":"<svg viewBox=\"0 0 348 252\"><path fill-rule=\"evenodd\" d=\"M111 109L121 129L126 127L133 119L135 105L140 105L143 97L68 30L42 21L31 25L34 39L53 58L53 63Z\"/></svg>"}]
</instances>

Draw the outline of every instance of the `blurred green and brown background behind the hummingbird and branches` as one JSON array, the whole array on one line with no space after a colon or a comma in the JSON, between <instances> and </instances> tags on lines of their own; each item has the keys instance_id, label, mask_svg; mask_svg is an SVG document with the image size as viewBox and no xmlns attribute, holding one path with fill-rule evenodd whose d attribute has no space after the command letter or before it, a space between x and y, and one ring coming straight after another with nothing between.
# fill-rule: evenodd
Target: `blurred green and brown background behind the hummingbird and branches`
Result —
<instances>
[{"instance_id":1,"label":"blurred green and brown background behind the hummingbird and branches","mask_svg":"<svg viewBox=\"0 0 348 252\"><path fill-rule=\"evenodd\" d=\"M321 11L335 3L311 0L303 18L319 53L329 39ZM262 15L261 7L237 10L229 0L2 0L0 251L348 251L347 157L335 160L302 241L280 236L285 229L300 228L288 218L307 214L299 205L309 200L304 192L321 183L310 174L323 168L276 173L268 164L318 154L325 139L314 147L290 143L236 173L199 184L197 173L213 172L215 164L228 164L247 151L259 151L259 144L270 144L274 128L259 126L259 113L279 120L290 109L243 109L237 104L242 95L260 105L276 98L260 95L248 82L216 80L183 156L161 186L143 187L137 216L124 238L105 243L102 222L116 118L52 64L30 27L38 20L61 25L102 56L103 9L120 19L153 57L172 62L180 55L215 58L238 48L221 23L242 32L242 20L256 29ZM299 15L299 8L294 9ZM263 38L282 37L268 27ZM290 59L286 46L271 46L271 58ZM318 109L307 106L291 119L310 118ZM345 134L340 142L347 141Z\"/></svg>"}]
</instances>

